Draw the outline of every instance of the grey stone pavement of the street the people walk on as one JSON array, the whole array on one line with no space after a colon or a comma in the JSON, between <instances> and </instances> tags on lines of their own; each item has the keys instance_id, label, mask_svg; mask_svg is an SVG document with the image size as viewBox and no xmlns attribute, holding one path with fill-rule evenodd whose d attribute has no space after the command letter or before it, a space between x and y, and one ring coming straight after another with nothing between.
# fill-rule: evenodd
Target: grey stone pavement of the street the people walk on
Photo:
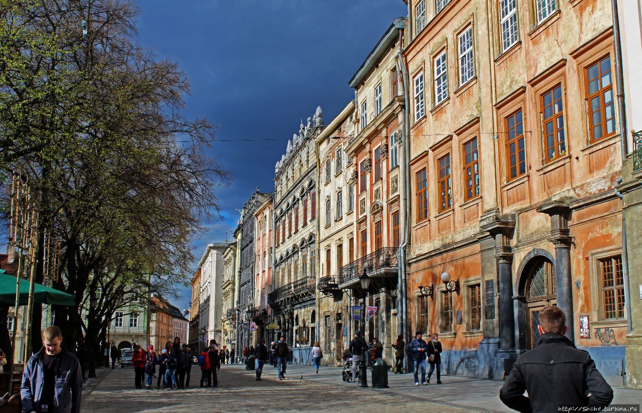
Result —
<instances>
[{"instance_id":1,"label":"grey stone pavement of the street the people walk on","mask_svg":"<svg viewBox=\"0 0 642 413\"><path fill-rule=\"evenodd\" d=\"M200 369L193 367L192 384ZM442 376L444 384L415 386L412 374L390 374L390 389L361 389L341 379L341 369L288 365L279 381L266 365L261 382L243 365L223 365L219 389L135 390L133 369L108 371L83 393L82 412L509 412L498 394L501 382ZM435 377L433 376L433 381ZM370 383L370 374L369 374ZM370 383L371 384L371 383ZM614 403L639 404L642 391L616 388Z\"/></svg>"}]
</instances>

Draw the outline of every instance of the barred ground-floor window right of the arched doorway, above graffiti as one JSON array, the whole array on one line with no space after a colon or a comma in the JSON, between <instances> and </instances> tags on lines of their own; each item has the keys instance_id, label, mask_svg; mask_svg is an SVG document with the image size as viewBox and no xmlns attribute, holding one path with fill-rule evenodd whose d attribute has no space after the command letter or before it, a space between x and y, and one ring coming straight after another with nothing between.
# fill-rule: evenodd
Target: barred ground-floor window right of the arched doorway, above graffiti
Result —
<instances>
[{"instance_id":1,"label":"barred ground-floor window right of the arched doorway, above graffiti","mask_svg":"<svg viewBox=\"0 0 642 413\"><path fill-rule=\"evenodd\" d=\"M604 319L624 318L624 280L622 257L613 256L598 260L602 279Z\"/></svg>"}]
</instances>

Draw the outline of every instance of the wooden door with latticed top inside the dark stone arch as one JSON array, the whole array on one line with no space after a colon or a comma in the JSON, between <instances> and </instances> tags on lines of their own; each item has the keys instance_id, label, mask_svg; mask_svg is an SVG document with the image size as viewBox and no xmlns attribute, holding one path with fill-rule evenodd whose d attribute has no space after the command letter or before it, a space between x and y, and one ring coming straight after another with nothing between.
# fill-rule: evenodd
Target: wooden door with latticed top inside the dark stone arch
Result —
<instances>
[{"instance_id":1,"label":"wooden door with latticed top inside the dark stone arch","mask_svg":"<svg viewBox=\"0 0 642 413\"><path fill-rule=\"evenodd\" d=\"M528 272L525 288L526 349L532 349L540 334L539 312L555 305L555 267L547 258L534 260Z\"/></svg>"}]
</instances>

